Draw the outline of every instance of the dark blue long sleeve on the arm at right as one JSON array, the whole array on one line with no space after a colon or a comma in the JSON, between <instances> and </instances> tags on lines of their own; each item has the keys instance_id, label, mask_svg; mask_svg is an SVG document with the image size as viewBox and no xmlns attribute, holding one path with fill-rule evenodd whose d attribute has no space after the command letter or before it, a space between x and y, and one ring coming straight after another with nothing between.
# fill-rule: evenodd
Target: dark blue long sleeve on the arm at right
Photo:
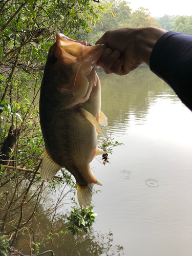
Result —
<instances>
[{"instance_id":1,"label":"dark blue long sleeve on the arm at right","mask_svg":"<svg viewBox=\"0 0 192 256\"><path fill-rule=\"evenodd\" d=\"M150 69L192 111L192 36L175 31L163 34L152 50Z\"/></svg>"}]
</instances>

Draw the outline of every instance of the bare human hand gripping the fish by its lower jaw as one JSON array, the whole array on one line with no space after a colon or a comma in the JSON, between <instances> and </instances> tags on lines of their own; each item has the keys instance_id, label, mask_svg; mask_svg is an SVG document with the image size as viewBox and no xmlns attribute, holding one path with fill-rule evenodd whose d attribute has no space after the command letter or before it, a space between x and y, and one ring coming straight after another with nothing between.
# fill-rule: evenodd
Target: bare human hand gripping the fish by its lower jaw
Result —
<instances>
[{"instance_id":1,"label":"bare human hand gripping the fish by its lower jaw","mask_svg":"<svg viewBox=\"0 0 192 256\"><path fill-rule=\"evenodd\" d=\"M106 74L126 75L142 63L150 65L150 55L156 41L166 31L154 28L121 28L109 30L96 42L107 44L97 65Z\"/></svg>"}]
</instances>

